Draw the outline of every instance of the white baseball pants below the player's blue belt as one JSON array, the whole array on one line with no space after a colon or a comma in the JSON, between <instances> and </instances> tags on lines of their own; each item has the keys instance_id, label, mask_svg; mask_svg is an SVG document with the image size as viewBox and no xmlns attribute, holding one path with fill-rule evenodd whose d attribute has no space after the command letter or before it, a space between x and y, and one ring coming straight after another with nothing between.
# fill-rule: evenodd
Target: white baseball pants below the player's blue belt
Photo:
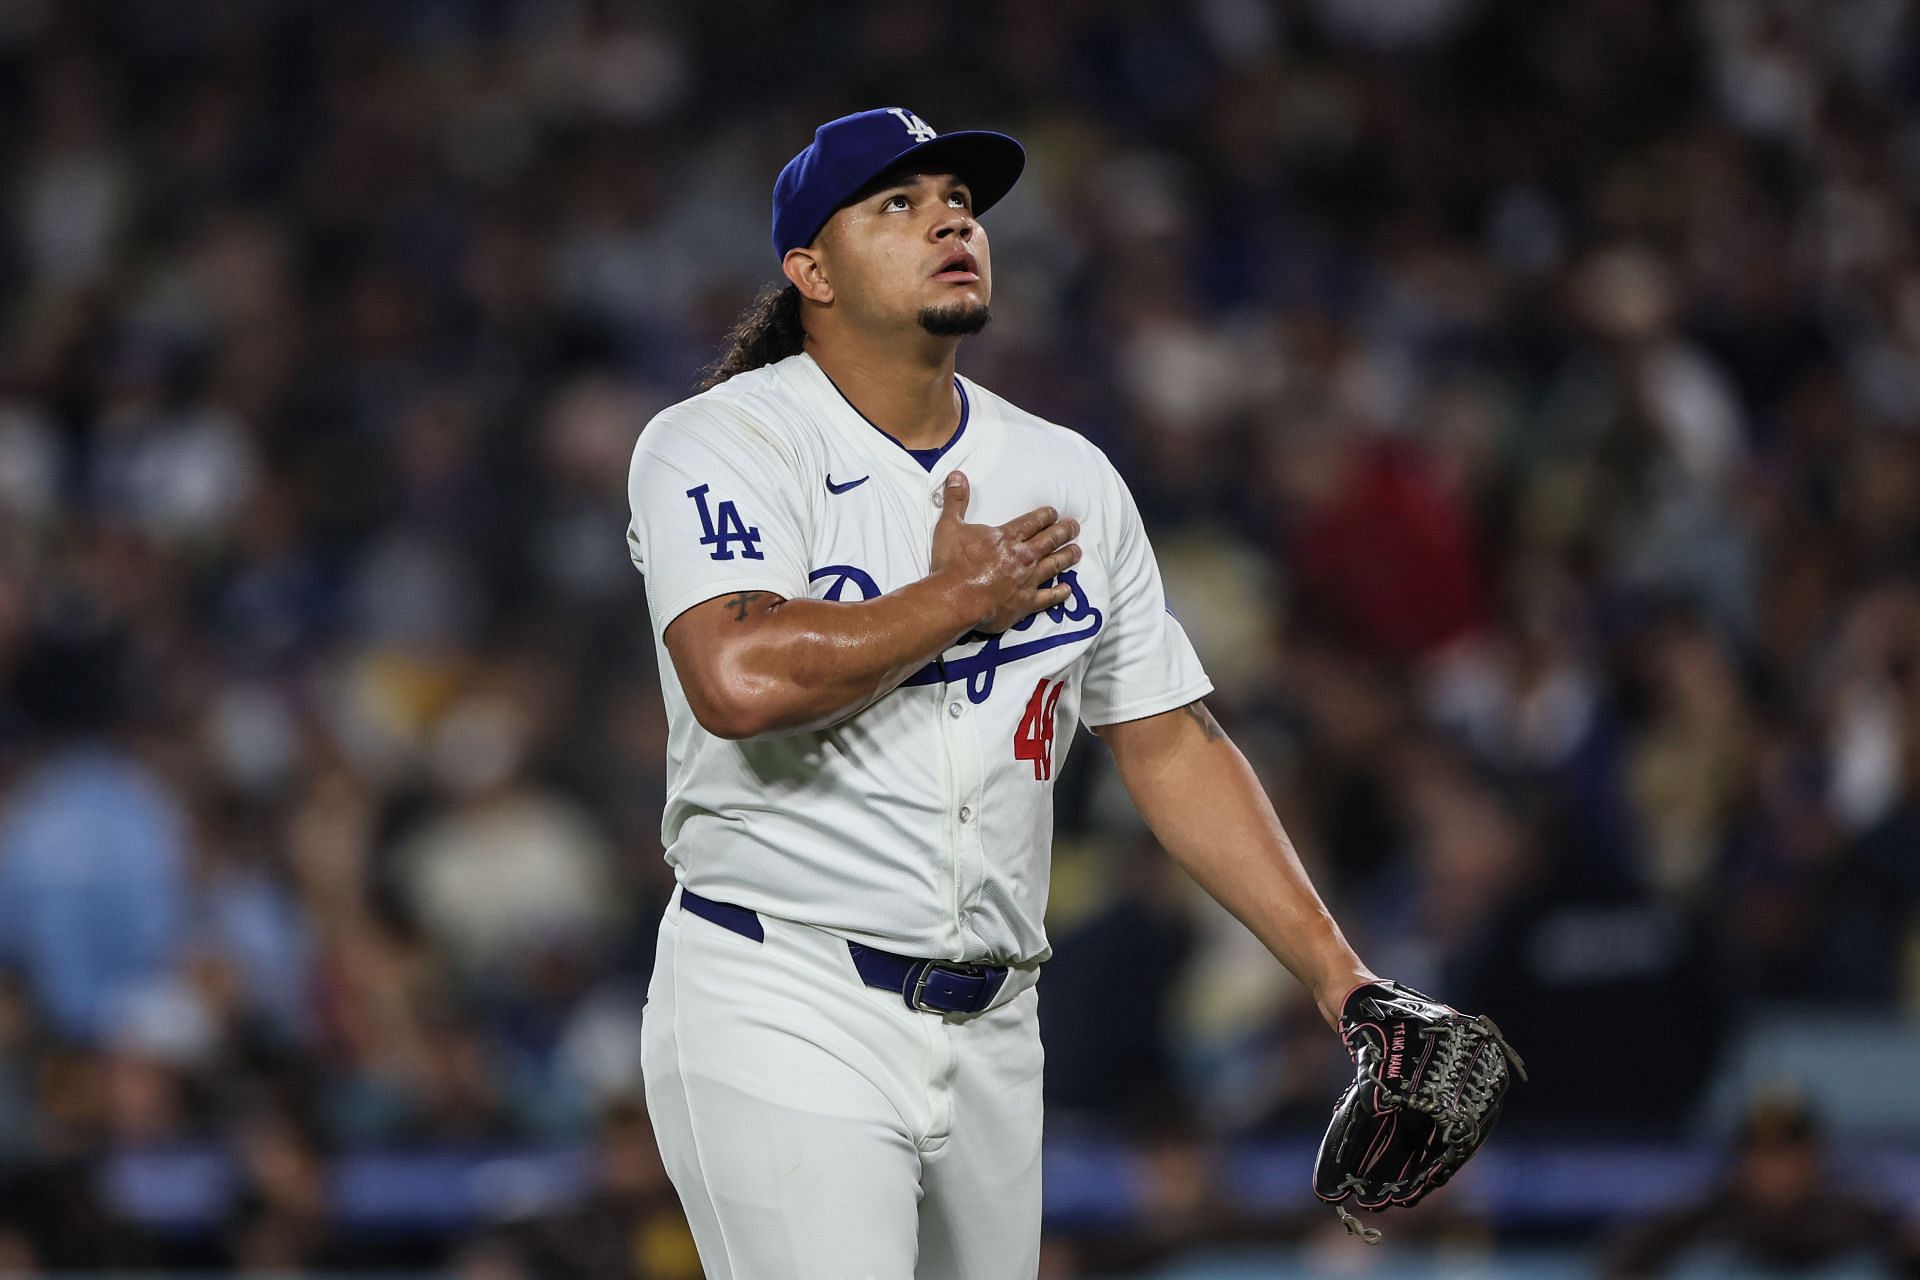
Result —
<instances>
[{"instance_id":1,"label":"white baseball pants below the player's blue belt","mask_svg":"<svg viewBox=\"0 0 1920 1280\"><path fill-rule=\"evenodd\" d=\"M866 986L845 940L755 942L674 892L641 1025L647 1109L708 1280L1031 1280L1037 967L972 1015Z\"/></svg>"}]
</instances>

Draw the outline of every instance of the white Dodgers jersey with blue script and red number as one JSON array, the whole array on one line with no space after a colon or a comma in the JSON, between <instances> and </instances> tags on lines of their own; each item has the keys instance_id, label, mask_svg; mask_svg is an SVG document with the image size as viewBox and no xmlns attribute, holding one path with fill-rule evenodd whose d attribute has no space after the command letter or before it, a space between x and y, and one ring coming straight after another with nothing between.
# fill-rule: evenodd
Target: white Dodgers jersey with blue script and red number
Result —
<instances>
[{"instance_id":1,"label":"white Dodgers jersey with blue script and red number","mask_svg":"<svg viewBox=\"0 0 1920 1280\"><path fill-rule=\"evenodd\" d=\"M931 461L868 422L810 355L737 374L647 424L628 543L647 580L668 714L660 841L682 885L891 952L1021 963L1043 915L1054 779L1073 725L1212 691L1167 612L1140 512L1085 438L956 378ZM733 591L868 601L927 576L943 482L966 518L1035 507L1081 522L1073 595L964 637L831 727L726 741L699 725L666 626Z\"/></svg>"}]
</instances>

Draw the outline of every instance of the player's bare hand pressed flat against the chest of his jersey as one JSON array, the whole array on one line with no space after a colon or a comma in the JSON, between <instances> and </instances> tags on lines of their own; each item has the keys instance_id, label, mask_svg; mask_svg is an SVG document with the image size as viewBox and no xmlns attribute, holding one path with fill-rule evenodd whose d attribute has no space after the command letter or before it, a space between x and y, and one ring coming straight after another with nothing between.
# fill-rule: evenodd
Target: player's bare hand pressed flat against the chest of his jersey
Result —
<instances>
[{"instance_id":1,"label":"player's bare hand pressed flat against the chest of his jersey","mask_svg":"<svg viewBox=\"0 0 1920 1280\"><path fill-rule=\"evenodd\" d=\"M933 526L933 572L950 572L964 583L970 606L981 608L973 629L993 635L1027 614L1066 604L1073 591L1052 580L1079 564L1073 541L1079 520L1035 507L1006 524L968 524L968 495L966 472L947 476Z\"/></svg>"}]
</instances>

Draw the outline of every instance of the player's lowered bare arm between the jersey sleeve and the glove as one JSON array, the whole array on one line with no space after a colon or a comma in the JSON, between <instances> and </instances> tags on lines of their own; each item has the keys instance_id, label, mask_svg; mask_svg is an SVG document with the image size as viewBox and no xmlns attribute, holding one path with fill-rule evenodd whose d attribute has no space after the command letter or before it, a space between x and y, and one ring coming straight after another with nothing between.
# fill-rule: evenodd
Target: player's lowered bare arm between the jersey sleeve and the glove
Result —
<instances>
[{"instance_id":1,"label":"player's lowered bare arm between the jersey sleeve and the glove","mask_svg":"<svg viewBox=\"0 0 1920 1280\"><path fill-rule=\"evenodd\" d=\"M1321 1017L1373 971L1313 890L1254 768L1204 702L1096 729L1173 860L1306 984Z\"/></svg>"}]
</instances>

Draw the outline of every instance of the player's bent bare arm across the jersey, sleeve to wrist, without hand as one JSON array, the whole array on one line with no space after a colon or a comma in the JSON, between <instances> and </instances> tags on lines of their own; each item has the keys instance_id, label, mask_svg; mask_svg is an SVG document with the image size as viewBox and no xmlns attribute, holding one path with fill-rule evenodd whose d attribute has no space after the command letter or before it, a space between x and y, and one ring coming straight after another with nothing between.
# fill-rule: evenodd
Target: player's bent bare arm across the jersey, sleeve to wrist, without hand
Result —
<instances>
[{"instance_id":1,"label":"player's bent bare arm across the jersey, sleeve to wrist, without hand","mask_svg":"<svg viewBox=\"0 0 1920 1280\"><path fill-rule=\"evenodd\" d=\"M979 595L956 574L929 574L860 603L735 591L676 618L666 649L699 722L749 739L872 706L977 622Z\"/></svg>"}]
</instances>

